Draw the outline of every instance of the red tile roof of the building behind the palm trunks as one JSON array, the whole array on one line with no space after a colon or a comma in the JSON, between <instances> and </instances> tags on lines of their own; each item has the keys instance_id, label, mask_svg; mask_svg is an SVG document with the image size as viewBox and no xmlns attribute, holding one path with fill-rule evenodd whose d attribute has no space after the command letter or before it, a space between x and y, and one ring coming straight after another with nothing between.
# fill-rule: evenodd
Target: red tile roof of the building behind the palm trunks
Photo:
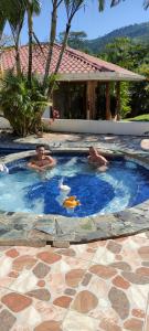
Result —
<instances>
[{"instance_id":1,"label":"red tile roof of the building behind the palm trunks","mask_svg":"<svg viewBox=\"0 0 149 331\"><path fill-rule=\"evenodd\" d=\"M54 44L54 52L52 57L51 72L54 72L61 45ZM45 60L47 55L47 44L42 44L42 51L38 45L33 50L33 72L44 74ZM23 71L28 70L28 46L21 46L20 50L21 66ZM14 49L7 50L2 54L2 67L3 70L12 68L15 65L15 52ZM67 47L65 50L58 73L60 74L77 74L77 73L100 73L110 72L124 75L136 75L135 73L127 71L118 65L103 61L95 56L91 56L81 51Z\"/></svg>"}]
</instances>

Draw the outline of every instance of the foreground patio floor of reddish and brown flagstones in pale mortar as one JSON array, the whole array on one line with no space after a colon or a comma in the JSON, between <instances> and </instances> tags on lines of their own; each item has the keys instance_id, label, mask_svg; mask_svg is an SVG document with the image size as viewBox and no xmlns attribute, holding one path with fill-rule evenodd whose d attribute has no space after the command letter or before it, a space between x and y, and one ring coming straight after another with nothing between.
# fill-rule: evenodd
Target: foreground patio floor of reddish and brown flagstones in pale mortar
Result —
<instances>
[{"instance_id":1,"label":"foreground patio floor of reddish and brown flagstones in pale mortar","mask_svg":"<svg viewBox=\"0 0 149 331\"><path fill-rule=\"evenodd\" d=\"M0 247L1 331L148 331L149 233Z\"/></svg>"}]
</instances>

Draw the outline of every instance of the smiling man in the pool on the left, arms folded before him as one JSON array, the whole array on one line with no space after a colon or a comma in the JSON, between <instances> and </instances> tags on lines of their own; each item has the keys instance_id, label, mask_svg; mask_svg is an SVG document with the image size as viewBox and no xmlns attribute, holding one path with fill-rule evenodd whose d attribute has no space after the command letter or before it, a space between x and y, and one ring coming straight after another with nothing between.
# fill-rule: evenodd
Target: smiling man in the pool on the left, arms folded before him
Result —
<instances>
[{"instance_id":1,"label":"smiling man in the pool on the left, arms folded before him","mask_svg":"<svg viewBox=\"0 0 149 331\"><path fill-rule=\"evenodd\" d=\"M42 172L55 167L56 161L52 157L46 156L44 145L36 146L35 151L36 156L28 163L30 169Z\"/></svg>"}]
</instances>

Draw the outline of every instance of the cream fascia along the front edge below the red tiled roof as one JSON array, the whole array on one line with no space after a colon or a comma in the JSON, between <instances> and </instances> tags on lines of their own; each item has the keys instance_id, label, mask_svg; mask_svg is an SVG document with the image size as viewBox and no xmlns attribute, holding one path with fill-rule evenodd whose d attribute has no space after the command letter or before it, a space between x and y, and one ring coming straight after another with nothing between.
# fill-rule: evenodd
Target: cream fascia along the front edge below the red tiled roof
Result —
<instances>
[{"instance_id":1,"label":"cream fascia along the front edge below the red tiled roof","mask_svg":"<svg viewBox=\"0 0 149 331\"><path fill-rule=\"evenodd\" d=\"M79 81L111 81L111 82L140 82L146 81L145 76L138 74L123 74L116 72L98 72L98 73L66 73L58 74L58 82L79 82Z\"/></svg>"}]
</instances>

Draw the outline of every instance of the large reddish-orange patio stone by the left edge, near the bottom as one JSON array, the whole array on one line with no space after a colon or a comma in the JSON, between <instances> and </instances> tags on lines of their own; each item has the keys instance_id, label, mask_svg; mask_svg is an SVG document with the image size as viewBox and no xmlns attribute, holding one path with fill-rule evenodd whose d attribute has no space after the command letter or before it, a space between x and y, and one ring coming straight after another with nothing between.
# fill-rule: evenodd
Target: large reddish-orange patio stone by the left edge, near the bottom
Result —
<instances>
[{"instance_id":1,"label":"large reddish-orange patio stone by the left edge, near the bottom","mask_svg":"<svg viewBox=\"0 0 149 331\"><path fill-rule=\"evenodd\" d=\"M32 299L22 295L11 292L1 298L1 302L4 303L11 311L20 312L32 303Z\"/></svg>"}]
</instances>

